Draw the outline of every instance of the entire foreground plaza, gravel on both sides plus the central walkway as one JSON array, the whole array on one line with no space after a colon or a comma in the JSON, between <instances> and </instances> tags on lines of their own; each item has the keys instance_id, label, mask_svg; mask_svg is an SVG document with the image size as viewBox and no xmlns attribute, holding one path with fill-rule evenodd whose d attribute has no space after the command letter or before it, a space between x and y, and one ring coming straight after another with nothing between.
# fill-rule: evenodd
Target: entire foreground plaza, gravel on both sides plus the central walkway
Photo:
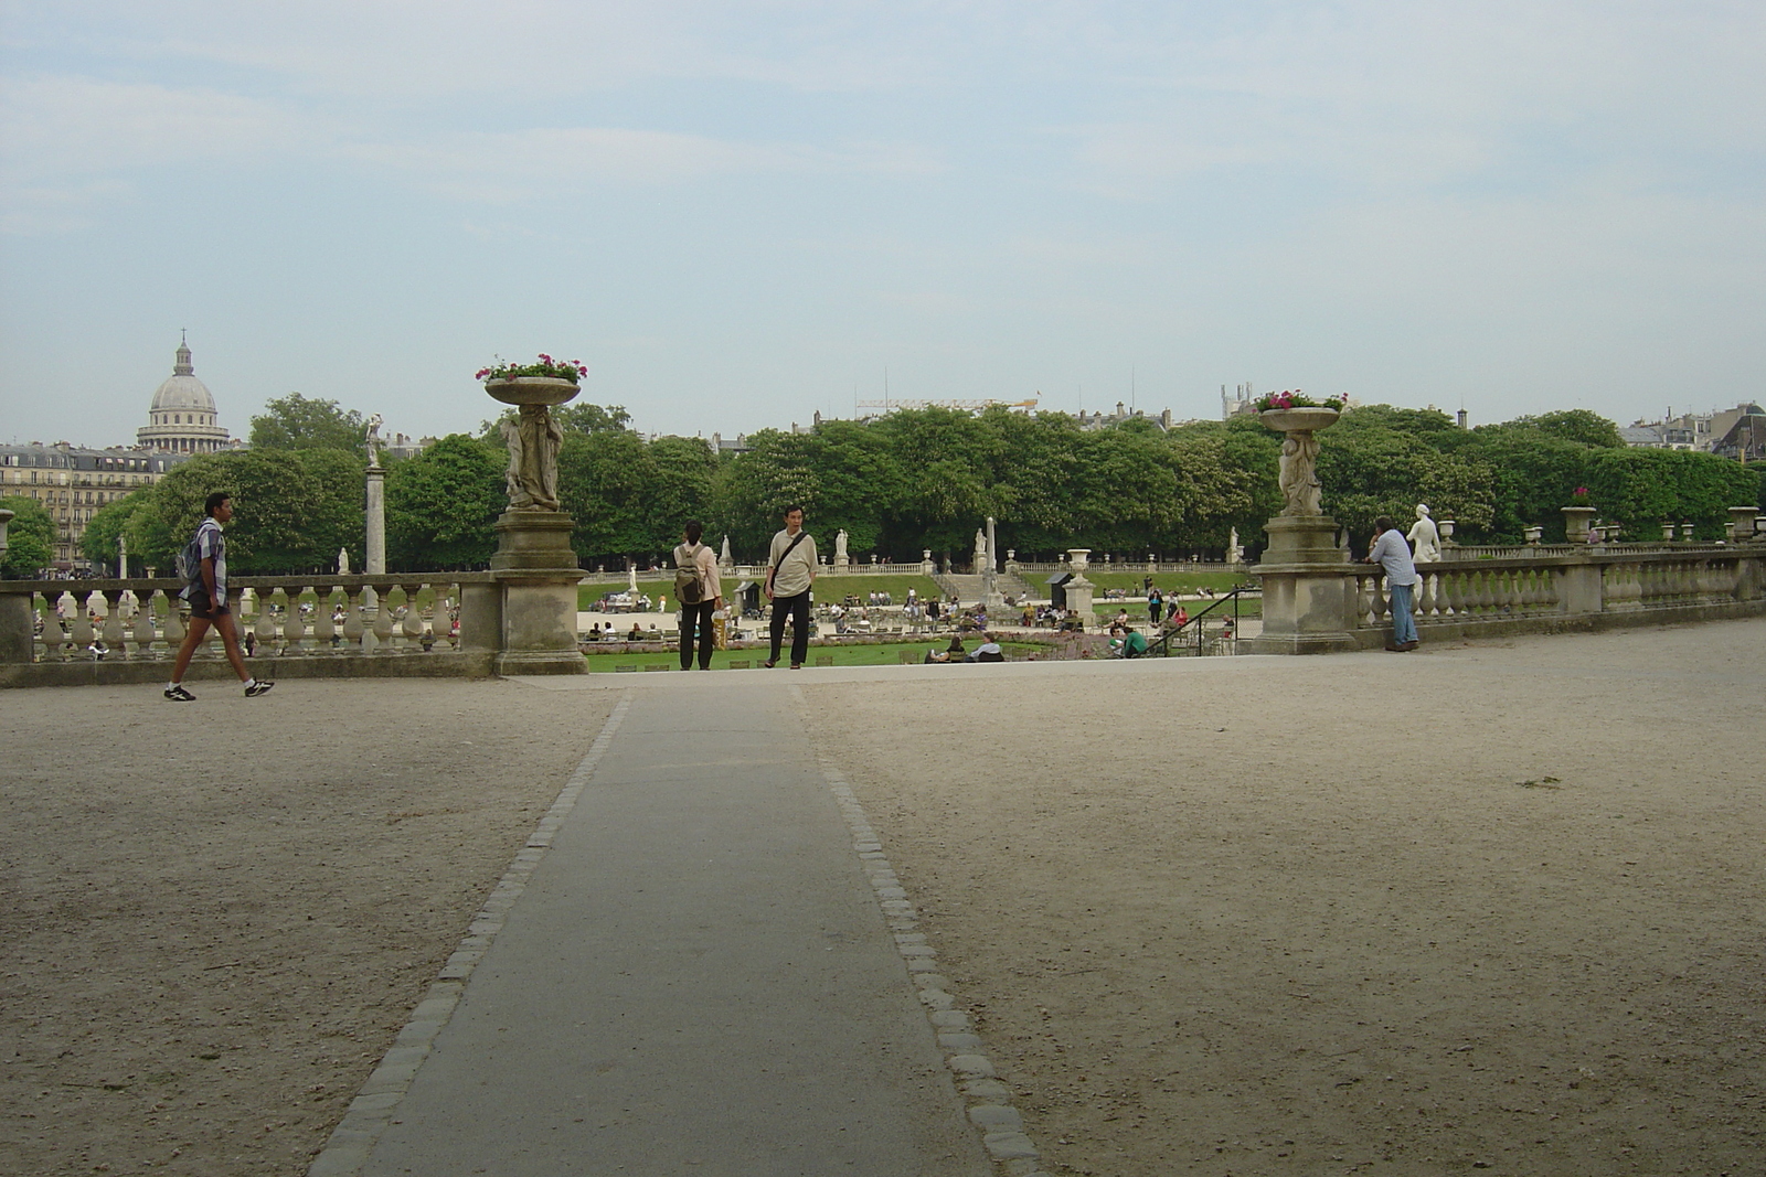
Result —
<instances>
[{"instance_id":1,"label":"entire foreground plaza, gravel on both sides plus the central walkway","mask_svg":"<svg viewBox=\"0 0 1766 1177\"><path fill-rule=\"evenodd\" d=\"M1750 618L1406 658L7 692L0 1147L1747 1172L1762 656Z\"/></svg>"}]
</instances>

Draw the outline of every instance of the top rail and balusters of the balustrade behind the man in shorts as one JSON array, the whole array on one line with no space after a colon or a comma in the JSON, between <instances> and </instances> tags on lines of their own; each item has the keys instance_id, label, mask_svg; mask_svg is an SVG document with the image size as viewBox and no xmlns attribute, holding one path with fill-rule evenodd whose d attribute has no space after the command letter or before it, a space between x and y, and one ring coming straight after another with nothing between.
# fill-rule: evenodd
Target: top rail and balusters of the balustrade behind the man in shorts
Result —
<instances>
[{"instance_id":1,"label":"top rail and balusters of the balustrade behind the man in shorts","mask_svg":"<svg viewBox=\"0 0 1766 1177\"><path fill-rule=\"evenodd\" d=\"M235 577L233 619L254 656L422 656L461 648L461 586L486 574ZM171 579L55 581L32 591L32 660L170 662L189 632ZM196 658L221 658L208 630Z\"/></svg>"}]
</instances>

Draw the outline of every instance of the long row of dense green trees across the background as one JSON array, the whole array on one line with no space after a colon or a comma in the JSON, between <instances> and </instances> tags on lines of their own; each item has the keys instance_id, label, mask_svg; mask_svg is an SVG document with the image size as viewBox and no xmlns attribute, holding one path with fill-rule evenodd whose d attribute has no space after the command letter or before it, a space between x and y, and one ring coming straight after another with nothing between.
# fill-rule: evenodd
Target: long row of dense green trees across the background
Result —
<instances>
[{"instance_id":1,"label":"long row of dense green trees across the background","mask_svg":"<svg viewBox=\"0 0 1766 1177\"><path fill-rule=\"evenodd\" d=\"M622 408L560 411L560 496L585 565L666 554L687 519L729 535L738 556L765 551L786 503L811 528L849 533L855 554L913 561L964 554L982 519L1001 547L1049 558L1100 552L1220 551L1236 528L1256 545L1280 510L1280 438L1256 418L1160 431L1134 418L1098 431L1061 413L913 409L874 422L823 422L811 432L761 431L745 454L719 457L698 438L645 439ZM101 510L87 554L113 558L117 535L166 566L201 517L208 491L238 506L230 561L238 572L362 559L366 457L360 416L330 401L284 397L253 420L253 448L192 459L157 485ZM1660 536L1662 521L1718 538L1727 508L1762 499L1759 468L1708 454L1634 450L1612 422L1582 409L1459 429L1434 409L1369 406L1319 434L1324 508L1358 536L1379 514L1409 519L1427 501L1455 519L1462 542L1519 542L1529 524L1563 536L1559 512L1586 487L1626 538ZM464 568L494 549L507 454L494 422L454 434L387 473L387 556L394 568Z\"/></svg>"}]
</instances>

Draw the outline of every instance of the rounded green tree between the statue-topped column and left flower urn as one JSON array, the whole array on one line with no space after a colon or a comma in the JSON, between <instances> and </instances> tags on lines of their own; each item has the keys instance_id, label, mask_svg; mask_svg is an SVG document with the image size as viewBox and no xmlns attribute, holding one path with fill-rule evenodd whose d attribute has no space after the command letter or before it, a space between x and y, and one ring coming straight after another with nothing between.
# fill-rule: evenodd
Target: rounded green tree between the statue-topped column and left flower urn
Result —
<instances>
[{"instance_id":1,"label":"rounded green tree between the statue-topped column and left flower urn","mask_svg":"<svg viewBox=\"0 0 1766 1177\"><path fill-rule=\"evenodd\" d=\"M496 551L509 506L505 457L449 434L387 471L387 563L401 570L470 568Z\"/></svg>"}]
</instances>

